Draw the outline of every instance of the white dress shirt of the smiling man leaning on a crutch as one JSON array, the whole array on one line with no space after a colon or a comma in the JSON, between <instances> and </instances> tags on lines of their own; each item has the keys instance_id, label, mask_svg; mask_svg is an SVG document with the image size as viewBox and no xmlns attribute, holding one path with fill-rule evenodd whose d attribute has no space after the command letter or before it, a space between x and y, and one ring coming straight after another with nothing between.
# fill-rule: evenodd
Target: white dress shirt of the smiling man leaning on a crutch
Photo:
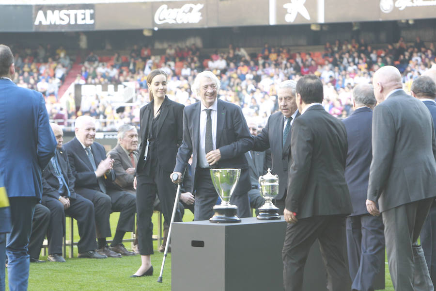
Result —
<instances>
[{"instance_id":1,"label":"white dress shirt of the smiling man leaning on a crutch","mask_svg":"<svg viewBox=\"0 0 436 291\"><path fill-rule=\"evenodd\" d=\"M208 168L209 163L206 160L206 109L212 109L210 118L212 119L212 144L214 149L217 149L217 114L218 114L218 98L215 99L214 104L209 108L201 105L200 112L200 146L198 148L198 165L202 168Z\"/></svg>"}]
</instances>

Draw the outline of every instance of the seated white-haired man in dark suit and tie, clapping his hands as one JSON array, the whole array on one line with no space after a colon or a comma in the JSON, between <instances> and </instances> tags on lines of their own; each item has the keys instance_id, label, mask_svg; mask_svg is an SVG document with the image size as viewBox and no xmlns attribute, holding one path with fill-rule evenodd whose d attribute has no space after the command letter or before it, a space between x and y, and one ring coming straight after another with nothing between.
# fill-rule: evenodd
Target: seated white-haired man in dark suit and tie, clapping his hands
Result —
<instances>
[{"instance_id":1,"label":"seated white-haired man in dark suit and tie, clapping his hands","mask_svg":"<svg viewBox=\"0 0 436 291\"><path fill-rule=\"evenodd\" d=\"M108 257L131 255L123 245L125 232L133 231L136 202L131 193L111 189L115 180L112 170L113 160L106 157L105 148L94 142L95 120L90 116L79 116L75 123L76 137L65 144L77 194L91 200L94 204L95 227L97 230L97 252ZM109 214L120 211L117 229L111 243L106 238L111 236Z\"/></svg>"}]
</instances>

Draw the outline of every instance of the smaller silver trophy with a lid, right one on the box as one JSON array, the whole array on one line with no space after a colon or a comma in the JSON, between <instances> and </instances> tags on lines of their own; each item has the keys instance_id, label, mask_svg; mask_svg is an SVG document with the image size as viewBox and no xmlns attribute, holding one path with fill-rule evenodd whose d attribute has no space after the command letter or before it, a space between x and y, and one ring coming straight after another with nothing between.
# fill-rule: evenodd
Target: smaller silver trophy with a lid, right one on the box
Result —
<instances>
[{"instance_id":1,"label":"smaller silver trophy with a lid, right one on the box","mask_svg":"<svg viewBox=\"0 0 436 291\"><path fill-rule=\"evenodd\" d=\"M268 168L268 173L259 177L259 184L265 204L259 208L257 219L280 219L279 209L272 203L272 199L279 194L279 176L272 175Z\"/></svg>"}]
</instances>

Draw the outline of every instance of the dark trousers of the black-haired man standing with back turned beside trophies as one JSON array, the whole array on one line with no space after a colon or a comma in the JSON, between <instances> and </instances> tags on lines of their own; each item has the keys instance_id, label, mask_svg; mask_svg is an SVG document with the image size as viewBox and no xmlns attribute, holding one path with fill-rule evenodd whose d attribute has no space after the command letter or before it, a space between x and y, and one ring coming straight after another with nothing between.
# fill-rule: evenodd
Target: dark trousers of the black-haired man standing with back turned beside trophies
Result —
<instances>
[{"instance_id":1,"label":"dark trousers of the black-haired man standing with back turned beside trophies","mask_svg":"<svg viewBox=\"0 0 436 291\"><path fill-rule=\"evenodd\" d=\"M343 244L345 217L323 215L303 218L286 226L282 250L283 284L285 291L303 290L304 265L312 244L319 241L321 257L327 270L327 290L349 291Z\"/></svg>"}]
</instances>

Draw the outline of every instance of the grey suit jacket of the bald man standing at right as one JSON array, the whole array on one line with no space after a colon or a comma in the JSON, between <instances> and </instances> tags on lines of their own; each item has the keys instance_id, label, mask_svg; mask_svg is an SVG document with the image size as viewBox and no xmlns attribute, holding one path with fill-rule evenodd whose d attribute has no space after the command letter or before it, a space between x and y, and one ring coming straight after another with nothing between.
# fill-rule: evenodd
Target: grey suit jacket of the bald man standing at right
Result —
<instances>
[{"instance_id":1,"label":"grey suit jacket of the bald man standing at right","mask_svg":"<svg viewBox=\"0 0 436 291\"><path fill-rule=\"evenodd\" d=\"M426 106L403 90L374 108L367 198L380 211L436 196L436 142Z\"/></svg>"}]
</instances>

